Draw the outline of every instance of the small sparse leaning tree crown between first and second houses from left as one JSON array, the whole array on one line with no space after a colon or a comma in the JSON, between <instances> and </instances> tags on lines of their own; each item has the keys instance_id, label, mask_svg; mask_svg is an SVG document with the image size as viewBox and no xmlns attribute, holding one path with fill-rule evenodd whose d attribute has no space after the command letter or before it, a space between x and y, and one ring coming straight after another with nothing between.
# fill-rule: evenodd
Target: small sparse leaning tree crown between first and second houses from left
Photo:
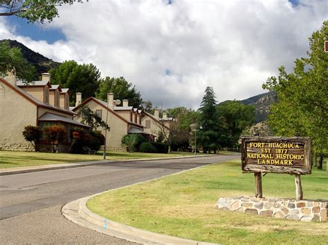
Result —
<instances>
[{"instance_id":1,"label":"small sparse leaning tree crown between first and second houses from left","mask_svg":"<svg viewBox=\"0 0 328 245\"><path fill-rule=\"evenodd\" d=\"M101 117L95 114L88 106L81 106L77 116L82 117L82 124L89 126L92 131L96 131L99 127L110 130L108 124L102 121Z\"/></svg>"}]
</instances>

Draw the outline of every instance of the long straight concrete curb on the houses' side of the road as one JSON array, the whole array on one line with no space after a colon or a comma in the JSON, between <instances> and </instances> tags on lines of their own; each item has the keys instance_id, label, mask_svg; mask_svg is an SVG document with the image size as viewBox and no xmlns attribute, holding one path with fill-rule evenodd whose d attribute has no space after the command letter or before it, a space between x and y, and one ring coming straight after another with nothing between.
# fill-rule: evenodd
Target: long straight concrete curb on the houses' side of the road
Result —
<instances>
[{"instance_id":1,"label":"long straight concrete curb on the houses' side of the road","mask_svg":"<svg viewBox=\"0 0 328 245\"><path fill-rule=\"evenodd\" d=\"M146 159L122 159L122 160L99 160L99 161L82 161L71 164L49 164L41 166L28 166L20 167L19 169L4 168L0 169L0 176L4 175L18 175L22 173L34 173L47 170L58 170L65 168L80 168L86 166L95 166L102 164L111 164L116 162L129 162L129 161L153 161L153 160L165 160L165 159L181 159L181 158L194 158L194 157L212 157L213 155L196 155L196 156L186 156L186 157L156 157L156 158L146 158Z\"/></svg>"}]
</instances>

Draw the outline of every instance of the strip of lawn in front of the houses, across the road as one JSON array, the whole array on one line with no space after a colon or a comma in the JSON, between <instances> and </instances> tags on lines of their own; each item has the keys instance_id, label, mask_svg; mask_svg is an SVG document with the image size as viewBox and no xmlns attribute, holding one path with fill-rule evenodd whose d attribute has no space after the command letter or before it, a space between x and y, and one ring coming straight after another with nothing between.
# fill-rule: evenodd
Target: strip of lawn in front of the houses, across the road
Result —
<instances>
[{"instance_id":1,"label":"strip of lawn in front of the houses, across the road","mask_svg":"<svg viewBox=\"0 0 328 245\"><path fill-rule=\"evenodd\" d=\"M107 152L108 160L118 159L141 159L156 157L182 157L193 155L193 153L127 153L127 152ZM199 153L197 153L199 155ZM66 164L77 161L97 161L102 160L102 153L97 155L78 155L66 153L30 153L18 151L0 151L0 168L15 168L23 166L37 166L46 164Z\"/></svg>"}]
</instances>

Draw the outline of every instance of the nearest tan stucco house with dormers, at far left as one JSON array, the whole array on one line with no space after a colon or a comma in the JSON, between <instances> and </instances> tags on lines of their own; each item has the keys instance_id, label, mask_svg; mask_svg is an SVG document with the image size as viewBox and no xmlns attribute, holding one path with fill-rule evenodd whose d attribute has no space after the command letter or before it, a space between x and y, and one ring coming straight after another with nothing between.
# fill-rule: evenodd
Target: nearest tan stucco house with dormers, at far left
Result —
<instances>
[{"instance_id":1,"label":"nearest tan stucco house with dormers, at far left","mask_svg":"<svg viewBox=\"0 0 328 245\"><path fill-rule=\"evenodd\" d=\"M59 151L67 151L71 145L71 128L86 128L73 120L74 112L69 110L69 93L68 89L51 85L48 73L42 74L42 81L33 81L32 84L17 81L12 73L0 78L0 150L34 150L22 135L25 126L43 128L61 124L66 128L66 139Z\"/></svg>"}]
</instances>

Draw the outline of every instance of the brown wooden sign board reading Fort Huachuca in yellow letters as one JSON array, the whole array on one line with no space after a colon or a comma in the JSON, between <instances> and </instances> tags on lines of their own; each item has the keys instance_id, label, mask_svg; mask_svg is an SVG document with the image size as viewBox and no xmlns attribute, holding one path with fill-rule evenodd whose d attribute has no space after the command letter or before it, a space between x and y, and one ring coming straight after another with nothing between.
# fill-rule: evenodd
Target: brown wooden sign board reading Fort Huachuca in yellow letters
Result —
<instances>
[{"instance_id":1,"label":"brown wooden sign board reading Fort Huachuca in yellow letters","mask_svg":"<svg viewBox=\"0 0 328 245\"><path fill-rule=\"evenodd\" d=\"M309 137L243 137L243 173L311 174Z\"/></svg>"}]
</instances>

